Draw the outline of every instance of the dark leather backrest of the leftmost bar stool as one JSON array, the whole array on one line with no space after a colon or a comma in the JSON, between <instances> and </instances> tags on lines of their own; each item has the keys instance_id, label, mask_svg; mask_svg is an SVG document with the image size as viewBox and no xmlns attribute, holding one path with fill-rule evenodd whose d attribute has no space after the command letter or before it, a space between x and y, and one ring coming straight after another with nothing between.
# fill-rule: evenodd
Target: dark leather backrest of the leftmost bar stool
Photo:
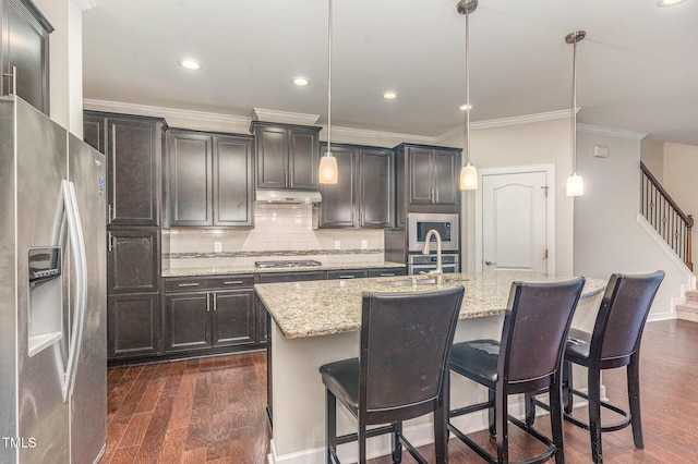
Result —
<instances>
[{"instance_id":1,"label":"dark leather backrest of the leftmost bar stool","mask_svg":"<svg viewBox=\"0 0 698 464\"><path fill-rule=\"evenodd\" d=\"M462 295L462 285L363 295L359 404L372 423L382 415L396 422L434 410Z\"/></svg>"}]
</instances>

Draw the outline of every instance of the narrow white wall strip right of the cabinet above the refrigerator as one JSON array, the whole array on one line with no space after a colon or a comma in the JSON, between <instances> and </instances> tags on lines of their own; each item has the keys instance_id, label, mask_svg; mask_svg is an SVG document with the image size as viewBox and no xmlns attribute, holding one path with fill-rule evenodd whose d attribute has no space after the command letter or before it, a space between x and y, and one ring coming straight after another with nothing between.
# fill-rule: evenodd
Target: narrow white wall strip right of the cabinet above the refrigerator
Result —
<instances>
[{"instance_id":1,"label":"narrow white wall strip right of the cabinet above the refrigerator","mask_svg":"<svg viewBox=\"0 0 698 464\"><path fill-rule=\"evenodd\" d=\"M34 0L55 30L49 36L50 117L83 135L83 26L75 0Z\"/></svg>"}]
</instances>

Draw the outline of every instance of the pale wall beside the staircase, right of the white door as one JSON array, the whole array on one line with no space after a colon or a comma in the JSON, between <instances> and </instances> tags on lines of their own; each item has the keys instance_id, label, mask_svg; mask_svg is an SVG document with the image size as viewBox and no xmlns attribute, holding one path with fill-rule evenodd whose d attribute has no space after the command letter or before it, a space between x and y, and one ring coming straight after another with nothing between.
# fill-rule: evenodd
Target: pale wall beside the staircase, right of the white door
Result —
<instances>
[{"instance_id":1,"label":"pale wall beside the staircase, right of the white door","mask_svg":"<svg viewBox=\"0 0 698 464\"><path fill-rule=\"evenodd\" d=\"M609 157L594 158L594 145L609 147ZM674 317L672 298L682 296L682 285L693 274L638 222L640 141L579 132L577 172L583 176L585 195L575 198L574 273L607 279L613 272L663 269L666 277L651 317Z\"/></svg>"}]
</instances>

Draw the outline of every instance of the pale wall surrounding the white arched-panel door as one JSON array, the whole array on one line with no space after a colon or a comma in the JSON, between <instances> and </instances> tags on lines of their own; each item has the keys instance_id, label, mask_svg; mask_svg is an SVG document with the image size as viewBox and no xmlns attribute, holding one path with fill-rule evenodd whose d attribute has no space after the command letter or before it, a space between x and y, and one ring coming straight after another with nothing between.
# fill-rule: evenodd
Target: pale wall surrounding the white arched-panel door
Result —
<instances>
[{"instance_id":1,"label":"pale wall surrounding the white arched-panel door","mask_svg":"<svg viewBox=\"0 0 698 464\"><path fill-rule=\"evenodd\" d=\"M462 146L460 135L444 141ZM561 274L573 271L573 200L565 195L565 181L570 171L569 118L528 122L470 131L470 159L482 168L527 164L555 164L555 269ZM474 262L474 193L465 192L464 268L473 270Z\"/></svg>"}]
</instances>

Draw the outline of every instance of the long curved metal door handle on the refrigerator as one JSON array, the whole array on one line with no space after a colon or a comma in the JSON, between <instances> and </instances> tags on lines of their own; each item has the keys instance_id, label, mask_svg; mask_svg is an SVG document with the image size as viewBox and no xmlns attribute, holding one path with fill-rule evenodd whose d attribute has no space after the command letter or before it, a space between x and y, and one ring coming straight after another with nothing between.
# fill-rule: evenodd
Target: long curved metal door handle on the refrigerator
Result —
<instances>
[{"instance_id":1,"label":"long curved metal door handle on the refrigerator","mask_svg":"<svg viewBox=\"0 0 698 464\"><path fill-rule=\"evenodd\" d=\"M68 363L63 383L61 386L63 402L73 394L75 383L75 371L80 351L82 346L83 331L85 326L85 312L87 309L87 259L85 257L85 240L83 237L83 227L77 209L75 197L75 186L72 182L63 181L63 199L65 216L68 218L68 233L71 243L71 254L73 258L73 274L75 278L75 297L73 325L70 339L70 350L68 352Z\"/></svg>"}]
</instances>

